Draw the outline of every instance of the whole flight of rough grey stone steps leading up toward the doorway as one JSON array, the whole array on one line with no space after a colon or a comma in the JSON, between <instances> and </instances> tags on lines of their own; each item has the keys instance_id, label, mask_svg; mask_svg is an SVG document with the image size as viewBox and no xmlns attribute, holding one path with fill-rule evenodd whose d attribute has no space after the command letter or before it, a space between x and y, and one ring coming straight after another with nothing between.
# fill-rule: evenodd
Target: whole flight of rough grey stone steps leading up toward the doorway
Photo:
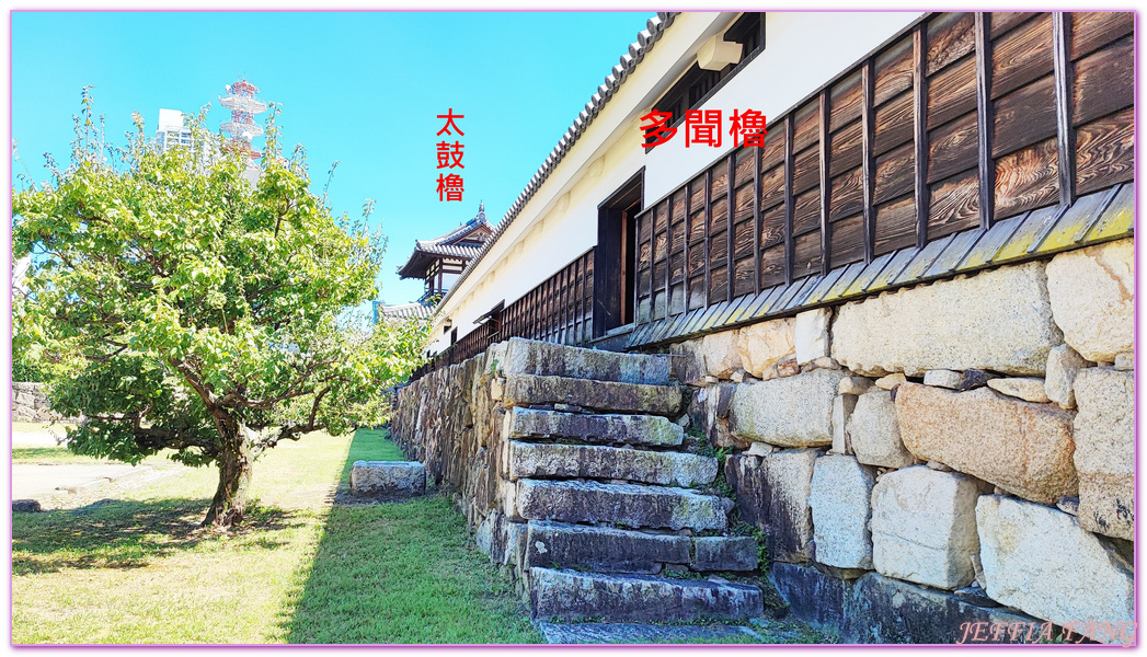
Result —
<instances>
[{"instance_id":1,"label":"whole flight of rough grey stone steps leading up toward the doorway","mask_svg":"<svg viewBox=\"0 0 1147 657\"><path fill-rule=\"evenodd\" d=\"M536 620L762 616L759 588L715 574L755 570L757 542L726 535L733 501L716 493L717 460L688 452L668 355L510 341L500 374Z\"/></svg>"}]
</instances>

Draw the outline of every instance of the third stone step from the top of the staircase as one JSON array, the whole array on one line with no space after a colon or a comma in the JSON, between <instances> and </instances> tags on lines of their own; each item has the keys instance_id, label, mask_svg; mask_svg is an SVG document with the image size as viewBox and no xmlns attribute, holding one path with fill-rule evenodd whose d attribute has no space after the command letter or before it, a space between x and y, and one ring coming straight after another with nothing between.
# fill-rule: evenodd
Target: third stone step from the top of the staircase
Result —
<instances>
[{"instance_id":1,"label":"third stone step from the top of the staircase","mask_svg":"<svg viewBox=\"0 0 1147 657\"><path fill-rule=\"evenodd\" d=\"M509 438L576 438L586 443L676 446L685 430L658 415L579 415L514 407L506 414Z\"/></svg>"}]
</instances>

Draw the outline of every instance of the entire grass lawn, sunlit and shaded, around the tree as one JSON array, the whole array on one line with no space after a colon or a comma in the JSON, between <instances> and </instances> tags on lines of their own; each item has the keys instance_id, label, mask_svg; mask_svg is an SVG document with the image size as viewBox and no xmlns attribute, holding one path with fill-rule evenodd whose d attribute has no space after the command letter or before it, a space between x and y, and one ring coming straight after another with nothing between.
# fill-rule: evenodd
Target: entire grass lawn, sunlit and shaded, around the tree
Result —
<instances>
[{"instance_id":1,"label":"entire grass lawn, sunlit and shaded, around the tree","mask_svg":"<svg viewBox=\"0 0 1147 657\"><path fill-rule=\"evenodd\" d=\"M50 462L56 448L14 452ZM537 642L525 608L431 495L331 506L382 432L317 433L256 463L248 522L198 527L213 469L13 518L14 643Z\"/></svg>"}]
</instances>

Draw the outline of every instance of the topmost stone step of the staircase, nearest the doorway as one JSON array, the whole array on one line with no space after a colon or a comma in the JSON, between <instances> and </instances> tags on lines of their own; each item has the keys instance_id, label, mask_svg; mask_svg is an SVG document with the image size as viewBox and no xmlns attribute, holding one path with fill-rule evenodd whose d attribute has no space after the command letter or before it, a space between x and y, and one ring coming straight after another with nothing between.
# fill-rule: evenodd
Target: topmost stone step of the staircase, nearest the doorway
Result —
<instances>
[{"instance_id":1,"label":"topmost stone step of the staircase, nearest the doorway","mask_svg":"<svg viewBox=\"0 0 1147 657\"><path fill-rule=\"evenodd\" d=\"M670 382L666 354L622 353L510 338L498 363L506 376L532 374L593 381L664 385Z\"/></svg>"}]
</instances>

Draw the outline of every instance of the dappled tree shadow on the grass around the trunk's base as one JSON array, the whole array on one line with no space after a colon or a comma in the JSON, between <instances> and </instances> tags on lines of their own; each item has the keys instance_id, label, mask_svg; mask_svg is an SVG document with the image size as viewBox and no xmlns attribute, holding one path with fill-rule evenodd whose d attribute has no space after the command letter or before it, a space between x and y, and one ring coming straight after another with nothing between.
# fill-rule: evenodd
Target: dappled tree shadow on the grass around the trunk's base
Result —
<instances>
[{"instance_id":1,"label":"dappled tree shadow on the grass around the trunk's base","mask_svg":"<svg viewBox=\"0 0 1147 657\"><path fill-rule=\"evenodd\" d=\"M244 524L220 532L200 526L210 503L210 499L100 500L78 509L16 515L13 574L143 568L156 557L189 550L206 541L231 540L305 522L295 511L256 507L248 510ZM250 540L266 548L283 545L270 537Z\"/></svg>"}]
</instances>

